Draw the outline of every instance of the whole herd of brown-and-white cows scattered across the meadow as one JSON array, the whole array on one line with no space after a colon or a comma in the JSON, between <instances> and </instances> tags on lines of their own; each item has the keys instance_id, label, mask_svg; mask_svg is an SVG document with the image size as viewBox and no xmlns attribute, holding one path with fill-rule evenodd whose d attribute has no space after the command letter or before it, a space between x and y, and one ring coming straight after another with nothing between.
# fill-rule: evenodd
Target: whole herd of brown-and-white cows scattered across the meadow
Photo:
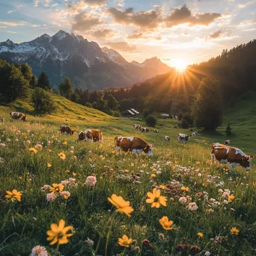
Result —
<instances>
[{"instance_id":1,"label":"whole herd of brown-and-white cows scattered across the meadow","mask_svg":"<svg viewBox=\"0 0 256 256\"><path fill-rule=\"evenodd\" d=\"M27 117L20 112L11 112L11 119L26 121ZM141 125L134 124L134 129L139 129L141 132L149 132L146 127L141 127ZM78 132L71 129L67 125L60 126L60 132L68 135L73 135L74 132L78 134L79 141L90 141L90 142L102 142L103 132L100 129L86 129L85 132ZM159 130L154 129L153 132L158 133ZM197 132L192 132L192 136L197 136ZM165 135L165 141L170 141L170 137ZM177 141L181 141L186 144L189 141L189 135L178 133ZM218 167L220 163L227 163L228 168L232 171L234 167L240 165L250 171L250 162L254 156L247 156L237 147L230 147L230 140L225 141L225 144L214 143L211 145L211 165L214 166L217 162ZM148 144L143 139L138 137L115 137L115 147L118 152L134 152L140 154L142 152L146 153L147 156L153 156L153 144Z\"/></svg>"}]
</instances>

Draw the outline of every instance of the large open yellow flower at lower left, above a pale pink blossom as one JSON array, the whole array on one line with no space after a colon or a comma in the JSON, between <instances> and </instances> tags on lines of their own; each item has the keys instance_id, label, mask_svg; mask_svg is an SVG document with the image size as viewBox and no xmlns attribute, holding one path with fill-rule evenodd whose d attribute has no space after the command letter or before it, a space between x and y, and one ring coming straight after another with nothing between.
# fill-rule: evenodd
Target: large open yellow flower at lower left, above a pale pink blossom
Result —
<instances>
[{"instance_id":1,"label":"large open yellow flower at lower left, above a pale pink blossom","mask_svg":"<svg viewBox=\"0 0 256 256\"><path fill-rule=\"evenodd\" d=\"M67 231L70 231L71 229L72 226L65 227L64 219L61 219L60 222L58 222L58 225L52 223L51 229L46 232L48 235L47 241L52 241L50 243L51 246L53 246L55 243L58 243L59 245L68 243L67 237L71 237L73 234L67 234Z\"/></svg>"}]
</instances>

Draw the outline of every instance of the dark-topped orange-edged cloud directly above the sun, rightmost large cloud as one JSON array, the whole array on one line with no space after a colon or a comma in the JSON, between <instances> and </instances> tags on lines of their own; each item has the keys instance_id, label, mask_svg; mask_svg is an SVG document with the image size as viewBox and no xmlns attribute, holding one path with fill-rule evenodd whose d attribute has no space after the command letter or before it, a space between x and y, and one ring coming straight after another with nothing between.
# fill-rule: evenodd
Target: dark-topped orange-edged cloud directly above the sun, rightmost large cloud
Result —
<instances>
[{"instance_id":1,"label":"dark-topped orange-edged cloud directly above the sun, rightmost large cloud","mask_svg":"<svg viewBox=\"0 0 256 256\"><path fill-rule=\"evenodd\" d=\"M192 15L191 10L186 5L176 7L171 11L171 14L165 19L165 25L168 28L174 25L189 23L189 25L210 25L215 19L222 15L220 13L196 13Z\"/></svg>"}]
</instances>

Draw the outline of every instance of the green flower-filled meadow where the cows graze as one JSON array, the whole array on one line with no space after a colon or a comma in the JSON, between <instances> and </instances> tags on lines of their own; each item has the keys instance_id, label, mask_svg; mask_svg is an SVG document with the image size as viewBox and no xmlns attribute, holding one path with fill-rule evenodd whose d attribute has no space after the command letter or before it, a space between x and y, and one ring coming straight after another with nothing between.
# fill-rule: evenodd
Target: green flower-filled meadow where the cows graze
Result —
<instances>
[{"instance_id":1,"label":"green flower-filled meadow where the cows graze","mask_svg":"<svg viewBox=\"0 0 256 256\"><path fill-rule=\"evenodd\" d=\"M61 103L54 115L36 116L22 101L0 106L5 119L0 124L0 255L30 255L38 245L48 255L256 255L255 163L249 172L210 167L210 144L228 138L225 127L199 132L182 144L177 132L192 131L174 128L177 121L159 120L167 127L141 134L132 125L142 121L112 118L54 97ZM231 143L254 155L255 101L239 112L244 103L248 98L228 109L224 124L231 121L234 129ZM31 123L10 121L14 109L28 113ZM101 129L103 143L60 134L62 124L78 131ZM153 157L118 154L117 135L153 143ZM171 140L164 141L164 135ZM58 191L52 184L60 183ZM22 192L20 201L6 198L13 189ZM147 193L153 189L166 197L166 206L151 207ZM116 212L108 200L113 194L129 201L133 211ZM172 222L161 225L163 216ZM68 243L51 246L46 231L61 219L73 235ZM131 240L124 241L124 235Z\"/></svg>"}]
</instances>

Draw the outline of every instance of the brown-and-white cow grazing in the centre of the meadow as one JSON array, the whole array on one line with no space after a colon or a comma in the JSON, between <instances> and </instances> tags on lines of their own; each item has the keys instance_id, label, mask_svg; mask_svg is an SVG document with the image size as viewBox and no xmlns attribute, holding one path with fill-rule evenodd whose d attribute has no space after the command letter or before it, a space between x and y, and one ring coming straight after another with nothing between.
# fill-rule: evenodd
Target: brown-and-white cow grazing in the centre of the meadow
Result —
<instances>
[{"instance_id":1,"label":"brown-and-white cow grazing in the centre of the meadow","mask_svg":"<svg viewBox=\"0 0 256 256\"><path fill-rule=\"evenodd\" d=\"M147 156L153 156L153 144L148 144L147 142L138 137L115 137L115 146L117 147L117 151L132 151L137 154L144 151Z\"/></svg>"}]
</instances>

